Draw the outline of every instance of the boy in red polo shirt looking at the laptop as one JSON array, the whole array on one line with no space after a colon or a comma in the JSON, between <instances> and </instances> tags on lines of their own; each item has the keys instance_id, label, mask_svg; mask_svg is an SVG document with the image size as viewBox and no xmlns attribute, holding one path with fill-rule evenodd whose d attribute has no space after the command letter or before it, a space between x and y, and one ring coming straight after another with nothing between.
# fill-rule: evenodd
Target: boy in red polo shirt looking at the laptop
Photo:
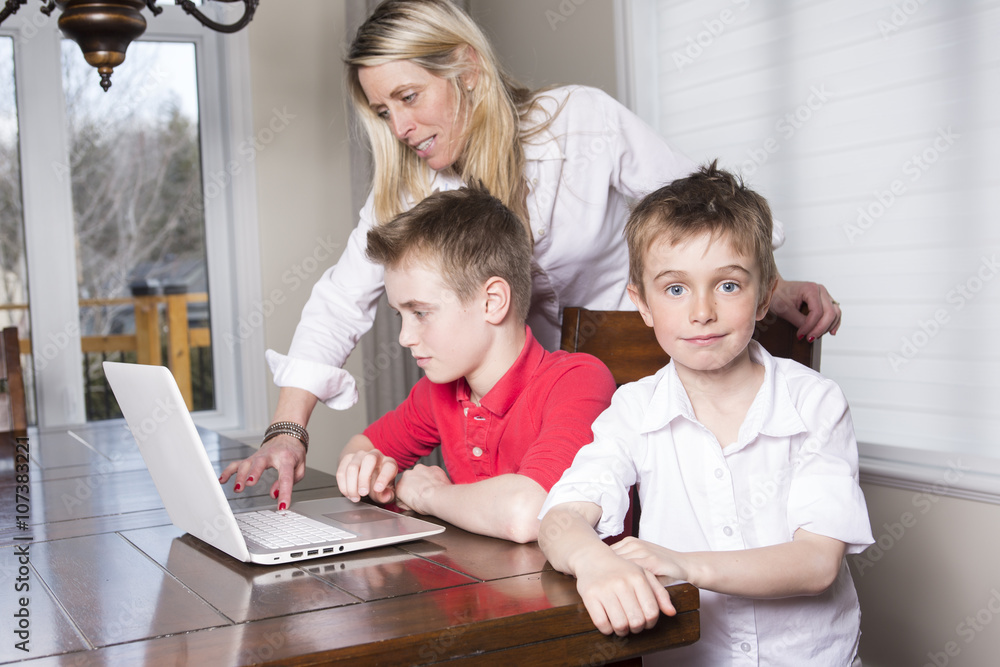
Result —
<instances>
[{"instance_id":1,"label":"boy in red polo shirt looking at the laptop","mask_svg":"<svg viewBox=\"0 0 1000 667\"><path fill-rule=\"evenodd\" d=\"M399 342L425 377L344 447L341 493L534 541L548 490L610 404L611 373L532 336L530 240L483 189L435 193L373 228L368 257L385 266ZM410 468L439 445L448 472Z\"/></svg>"}]
</instances>

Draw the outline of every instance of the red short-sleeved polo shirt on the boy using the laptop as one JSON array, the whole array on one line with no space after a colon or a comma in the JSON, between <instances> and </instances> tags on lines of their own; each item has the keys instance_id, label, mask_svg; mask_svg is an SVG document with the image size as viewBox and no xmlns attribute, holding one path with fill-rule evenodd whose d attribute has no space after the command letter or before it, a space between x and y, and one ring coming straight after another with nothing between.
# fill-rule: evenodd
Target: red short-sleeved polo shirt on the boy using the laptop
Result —
<instances>
[{"instance_id":1,"label":"red short-sleeved polo shirt on the boy using the laptop","mask_svg":"<svg viewBox=\"0 0 1000 667\"><path fill-rule=\"evenodd\" d=\"M548 491L593 440L590 425L614 391L611 372L595 357L547 352L527 328L517 361L479 405L464 378L434 384L424 377L364 434L400 469L441 445L456 484L517 473Z\"/></svg>"}]
</instances>

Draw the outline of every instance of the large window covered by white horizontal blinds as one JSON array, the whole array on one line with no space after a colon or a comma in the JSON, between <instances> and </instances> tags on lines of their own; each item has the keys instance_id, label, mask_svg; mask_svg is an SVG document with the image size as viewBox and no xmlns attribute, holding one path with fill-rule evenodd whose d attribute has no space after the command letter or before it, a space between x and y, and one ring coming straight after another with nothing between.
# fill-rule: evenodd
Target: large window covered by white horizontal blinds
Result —
<instances>
[{"instance_id":1,"label":"large window covered by white horizontal blinds","mask_svg":"<svg viewBox=\"0 0 1000 667\"><path fill-rule=\"evenodd\" d=\"M620 17L633 108L740 171L786 223L782 274L843 304L822 368L864 474L958 468L956 493L997 499L1000 3L640 0Z\"/></svg>"}]
</instances>

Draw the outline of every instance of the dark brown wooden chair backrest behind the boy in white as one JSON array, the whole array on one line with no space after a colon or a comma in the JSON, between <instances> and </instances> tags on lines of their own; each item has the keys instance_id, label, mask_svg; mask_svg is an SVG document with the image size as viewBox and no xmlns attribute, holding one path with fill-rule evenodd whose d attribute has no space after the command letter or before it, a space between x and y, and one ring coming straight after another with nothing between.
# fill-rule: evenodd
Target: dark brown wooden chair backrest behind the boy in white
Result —
<instances>
[{"instance_id":1,"label":"dark brown wooden chair backrest behind the boy in white","mask_svg":"<svg viewBox=\"0 0 1000 667\"><path fill-rule=\"evenodd\" d=\"M765 350L819 370L820 345L799 340L789 322L768 315L754 333ZM592 354L611 370L617 384L635 382L665 366L670 357L637 311L563 310L562 349Z\"/></svg>"}]
</instances>

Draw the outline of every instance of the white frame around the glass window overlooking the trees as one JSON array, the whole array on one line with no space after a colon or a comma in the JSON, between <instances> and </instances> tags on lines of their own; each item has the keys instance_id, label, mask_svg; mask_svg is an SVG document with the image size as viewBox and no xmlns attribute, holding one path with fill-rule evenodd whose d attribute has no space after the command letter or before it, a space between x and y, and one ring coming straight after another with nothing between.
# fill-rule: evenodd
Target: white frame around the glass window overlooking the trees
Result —
<instances>
[{"instance_id":1,"label":"white frame around the glass window overlooking the trees","mask_svg":"<svg viewBox=\"0 0 1000 667\"><path fill-rule=\"evenodd\" d=\"M198 424L233 437L257 433L267 418L264 332L253 323L261 302L256 168L236 149L254 135L246 31L221 35L180 7L147 18L142 40L194 44L199 98L205 244L210 285L215 408ZM228 8L206 11L229 12ZM86 421L72 195L66 170L69 138L62 92L58 12L30 6L4 22L14 43L28 290L38 425ZM219 17L223 18L223 17ZM120 66L129 66L126 58ZM52 82L58 85L52 85ZM114 78L112 77L112 82ZM98 85L96 70L94 85ZM112 91L114 88L111 89ZM207 196L212 175L226 175Z\"/></svg>"}]
</instances>

